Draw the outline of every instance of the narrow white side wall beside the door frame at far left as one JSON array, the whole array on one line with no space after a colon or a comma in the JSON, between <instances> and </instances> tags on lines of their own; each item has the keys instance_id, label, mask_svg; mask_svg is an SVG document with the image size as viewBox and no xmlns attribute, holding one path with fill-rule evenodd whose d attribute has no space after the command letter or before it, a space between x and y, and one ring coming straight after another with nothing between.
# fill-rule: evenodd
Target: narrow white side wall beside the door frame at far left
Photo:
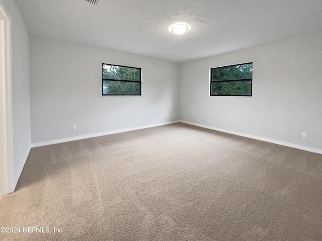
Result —
<instances>
[{"instance_id":1,"label":"narrow white side wall beside the door frame at far left","mask_svg":"<svg viewBox=\"0 0 322 241\"><path fill-rule=\"evenodd\" d=\"M13 0L0 0L11 18L14 184L16 186L31 145L29 36ZM9 190L11 192L13 190Z\"/></svg>"}]
</instances>

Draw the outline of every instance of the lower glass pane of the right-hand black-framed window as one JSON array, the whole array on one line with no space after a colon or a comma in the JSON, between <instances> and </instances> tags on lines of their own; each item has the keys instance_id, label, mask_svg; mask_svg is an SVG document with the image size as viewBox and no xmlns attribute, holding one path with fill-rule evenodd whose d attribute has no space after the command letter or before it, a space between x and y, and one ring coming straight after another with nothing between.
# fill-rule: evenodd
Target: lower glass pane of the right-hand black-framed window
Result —
<instances>
[{"instance_id":1,"label":"lower glass pane of the right-hand black-framed window","mask_svg":"<svg viewBox=\"0 0 322 241\"><path fill-rule=\"evenodd\" d=\"M211 95L252 95L252 81L212 82Z\"/></svg>"}]
</instances>

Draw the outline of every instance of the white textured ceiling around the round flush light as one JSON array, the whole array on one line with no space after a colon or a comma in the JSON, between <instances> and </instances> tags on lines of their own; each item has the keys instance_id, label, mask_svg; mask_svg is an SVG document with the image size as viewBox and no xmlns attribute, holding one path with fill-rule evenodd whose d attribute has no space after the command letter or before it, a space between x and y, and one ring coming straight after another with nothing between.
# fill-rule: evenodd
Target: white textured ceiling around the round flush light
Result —
<instances>
[{"instance_id":1,"label":"white textured ceiling around the round flush light","mask_svg":"<svg viewBox=\"0 0 322 241\"><path fill-rule=\"evenodd\" d=\"M16 0L29 34L174 62L322 31L321 0ZM185 35L168 28L191 26Z\"/></svg>"}]
</instances>

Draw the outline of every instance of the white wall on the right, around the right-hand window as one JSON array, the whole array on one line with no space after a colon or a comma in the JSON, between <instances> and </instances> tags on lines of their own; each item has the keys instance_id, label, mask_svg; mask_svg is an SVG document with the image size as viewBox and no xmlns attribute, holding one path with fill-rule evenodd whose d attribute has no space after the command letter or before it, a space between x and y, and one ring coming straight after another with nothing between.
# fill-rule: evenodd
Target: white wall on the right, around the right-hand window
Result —
<instances>
[{"instance_id":1,"label":"white wall on the right, around the right-hand window","mask_svg":"<svg viewBox=\"0 0 322 241\"><path fill-rule=\"evenodd\" d=\"M252 98L209 96L209 68L247 62ZM321 66L322 33L184 63L181 119L322 150Z\"/></svg>"}]
</instances>

